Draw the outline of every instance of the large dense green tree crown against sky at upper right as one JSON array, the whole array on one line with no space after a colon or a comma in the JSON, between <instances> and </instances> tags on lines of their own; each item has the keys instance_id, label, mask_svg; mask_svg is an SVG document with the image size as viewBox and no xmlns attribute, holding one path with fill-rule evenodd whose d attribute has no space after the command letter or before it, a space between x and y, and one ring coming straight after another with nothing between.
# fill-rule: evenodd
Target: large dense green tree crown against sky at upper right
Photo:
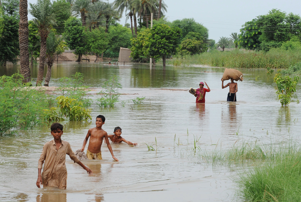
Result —
<instances>
[{"instance_id":1,"label":"large dense green tree crown against sky at upper right","mask_svg":"<svg viewBox=\"0 0 301 202\"><path fill-rule=\"evenodd\" d=\"M280 47L293 36L300 38L301 18L293 13L272 9L268 14L246 22L240 32L240 47L268 51Z\"/></svg>"}]
</instances>

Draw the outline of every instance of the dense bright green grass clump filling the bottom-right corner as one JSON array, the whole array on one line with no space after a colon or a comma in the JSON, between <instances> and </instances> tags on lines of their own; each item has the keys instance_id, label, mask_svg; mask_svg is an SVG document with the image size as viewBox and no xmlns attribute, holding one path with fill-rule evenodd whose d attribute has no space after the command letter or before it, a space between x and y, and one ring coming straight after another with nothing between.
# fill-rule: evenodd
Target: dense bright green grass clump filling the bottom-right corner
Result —
<instances>
[{"instance_id":1,"label":"dense bright green grass clump filling the bottom-right corner","mask_svg":"<svg viewBox=\"0 0 301 202\"><path fill-rule=\"evenodd\" d=\"M287 147L290 146L290 147ZM301 149L281 146L274 158L257 164L237 180L238 195L244 201L300 201Z\"/></svg>"}]
</instances>

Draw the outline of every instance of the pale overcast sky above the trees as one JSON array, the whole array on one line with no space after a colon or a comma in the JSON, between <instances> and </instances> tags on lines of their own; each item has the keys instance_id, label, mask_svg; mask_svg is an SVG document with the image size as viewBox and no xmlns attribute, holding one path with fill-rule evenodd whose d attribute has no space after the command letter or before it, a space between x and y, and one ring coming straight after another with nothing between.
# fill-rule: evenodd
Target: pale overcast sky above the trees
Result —
<instances>
[{"instance_id":1,"label":"pale overcast sky above the trees","mask_svg":"<svg viewBox=\"0 0 301 202\"><path fill-rule=\"evenodd\" d=\"M113 2L114 0L109 0ZM36 0L28 0L35 3ZM219 37L232 32L239 33L241 25L258 15L267 14L273 8L287 13L301 14L301 1L299 0L164 0L167 8L166 17L169 21L193 17L196 22L203 23L209 30L209 39L216 42ZM29 15L29 19L32 17ZM126 18L120 20L125 24ZM129 20L128 20L129 23Z\"/></svg>"}]
</instances>

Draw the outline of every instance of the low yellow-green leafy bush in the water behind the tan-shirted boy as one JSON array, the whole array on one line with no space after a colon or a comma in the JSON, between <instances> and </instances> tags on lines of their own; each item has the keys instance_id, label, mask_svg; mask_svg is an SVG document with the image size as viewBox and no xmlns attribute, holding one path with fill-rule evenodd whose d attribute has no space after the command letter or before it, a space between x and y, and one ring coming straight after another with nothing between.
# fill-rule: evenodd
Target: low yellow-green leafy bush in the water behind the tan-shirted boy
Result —
<instances>
[{"instance_id":1,"label":"low yellow-green leafy bush in the water behind the tan-shirted boy","mask_svg":"<svg viewBox=\"0 0 301 202\"><path fill-rule=\"evenodd\" d=\"M83 103L77 99L71 99L65 96L56 98L62 115L69 117L70 121L87 121L92 120L91 109L83 108Z\"/></svg>"}]
</instances>

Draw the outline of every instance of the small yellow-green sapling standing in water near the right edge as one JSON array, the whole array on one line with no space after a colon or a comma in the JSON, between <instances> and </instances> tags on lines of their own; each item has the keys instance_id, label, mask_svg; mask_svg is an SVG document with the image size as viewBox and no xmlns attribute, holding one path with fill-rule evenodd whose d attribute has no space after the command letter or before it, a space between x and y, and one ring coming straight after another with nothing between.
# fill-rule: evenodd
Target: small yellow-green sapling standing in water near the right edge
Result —
<instances>
[{"instance_id":1,"label":"small yellow-green sapling standing in water near the right edge","mask_svg":"<svg viewBox=\"0 0 301 202\"><path fill-rule=\"evenodd\" d=\"M277 73L274 77L274 82L277 84L278 91L276 92L281 105L286 106L290 104L292 95L296 92L296 85L299 81L299 76L295 76L292 80L289 76L282 76Z\"/></svg>"}]
</instances>

